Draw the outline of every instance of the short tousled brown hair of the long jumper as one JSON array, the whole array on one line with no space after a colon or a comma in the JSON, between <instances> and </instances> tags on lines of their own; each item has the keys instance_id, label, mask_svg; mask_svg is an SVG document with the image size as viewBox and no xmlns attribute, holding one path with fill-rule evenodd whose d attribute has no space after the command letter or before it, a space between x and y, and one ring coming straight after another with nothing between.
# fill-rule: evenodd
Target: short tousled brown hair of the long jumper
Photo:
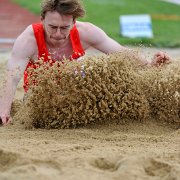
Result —
<instances>
[{"instance_id":1,"label":"short tousled brown hair of the long jumper","mask_svg":"<svg viewBox=\"0 0 180 180\"><path fill-rule=\"evenodd\" d=\"M80 0L44 0L41 3L41 17L43 19L48 11L57 11L59 14L72 15L73 19L85 15L85 9Z\"/></svg>"}]
</instances>

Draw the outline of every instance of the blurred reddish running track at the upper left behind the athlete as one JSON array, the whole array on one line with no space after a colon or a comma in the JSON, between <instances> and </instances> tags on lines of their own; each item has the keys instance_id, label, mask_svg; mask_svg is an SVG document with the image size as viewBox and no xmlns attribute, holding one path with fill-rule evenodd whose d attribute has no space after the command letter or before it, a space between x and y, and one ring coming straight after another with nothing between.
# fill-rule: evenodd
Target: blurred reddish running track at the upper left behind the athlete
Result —
<instances>
[{"instance_id":1,"label":"blurred reddish running track at the upper left behind the athlete","mask_svg":"<svg viewBox=\"0 0 180 180\"><path fill-rule=\"evenodd\" d=\"M39 22L37 16L11 0L0 0L0 48L12 48L7 40L15 39L30 24Z\"/></svg>"}]
</instances>

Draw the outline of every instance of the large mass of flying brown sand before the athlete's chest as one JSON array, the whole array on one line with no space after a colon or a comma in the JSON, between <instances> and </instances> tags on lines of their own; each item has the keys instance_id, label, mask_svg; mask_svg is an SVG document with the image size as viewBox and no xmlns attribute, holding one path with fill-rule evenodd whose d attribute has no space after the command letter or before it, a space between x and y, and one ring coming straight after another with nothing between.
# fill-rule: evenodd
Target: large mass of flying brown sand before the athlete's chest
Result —
<instances>
[{"instance_id":1,"label":"large mass of flying brown sand before the athlete's chest","mask_svg":"<svg viewBox=\"0 0 180 180\"><path fill-rule=\"evenodd\" d=\"M143 121L149 103L136 73L137 60L119 53L31 70L38 86L30 88L15 119L26 127L48 129Z\"/></svg>"}]
</instances>

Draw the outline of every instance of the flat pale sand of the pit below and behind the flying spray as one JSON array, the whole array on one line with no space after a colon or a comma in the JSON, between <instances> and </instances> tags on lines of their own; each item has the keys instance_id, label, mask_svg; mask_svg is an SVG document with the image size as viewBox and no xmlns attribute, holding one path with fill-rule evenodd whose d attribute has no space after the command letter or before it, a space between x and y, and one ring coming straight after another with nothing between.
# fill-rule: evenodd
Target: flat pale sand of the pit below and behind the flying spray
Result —
<instances>
[{"instance_id":1,"label":"flat pale sand of the pit below and behind the flying spray","mask_svg":"<svg viewBox=\"0 0 180 180\"><path fill-rule=\"evenodd\" d=\"M163 50L180 58L180 49ZM143 50L149 58L155 51ZM0 53L1 82L9 55ZM15 99L22 97L21 82ZM2 180L180 179L180 129L154 120L61 130L9 125L0 136Z\"/></svg>"}]
</instances>

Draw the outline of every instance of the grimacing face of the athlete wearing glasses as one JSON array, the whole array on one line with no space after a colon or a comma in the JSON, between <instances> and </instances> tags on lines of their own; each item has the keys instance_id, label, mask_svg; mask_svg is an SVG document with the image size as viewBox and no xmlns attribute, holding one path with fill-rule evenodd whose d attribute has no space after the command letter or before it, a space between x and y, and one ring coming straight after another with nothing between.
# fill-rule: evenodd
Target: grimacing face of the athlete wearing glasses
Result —
<instances>
[{"instance_id":1,"label":"grimacing face of the athlete wearing glasses","mask_svg":"<svg viewBox=\"0 0 180 180\"><path fill-rule=\"evenodd\" d=\"M45 18L42 19L42 23L48 41L53 45L63 44L74 26L71 15L61 15L56 11L47 12Z\"/></svg>"}]
</instances>

